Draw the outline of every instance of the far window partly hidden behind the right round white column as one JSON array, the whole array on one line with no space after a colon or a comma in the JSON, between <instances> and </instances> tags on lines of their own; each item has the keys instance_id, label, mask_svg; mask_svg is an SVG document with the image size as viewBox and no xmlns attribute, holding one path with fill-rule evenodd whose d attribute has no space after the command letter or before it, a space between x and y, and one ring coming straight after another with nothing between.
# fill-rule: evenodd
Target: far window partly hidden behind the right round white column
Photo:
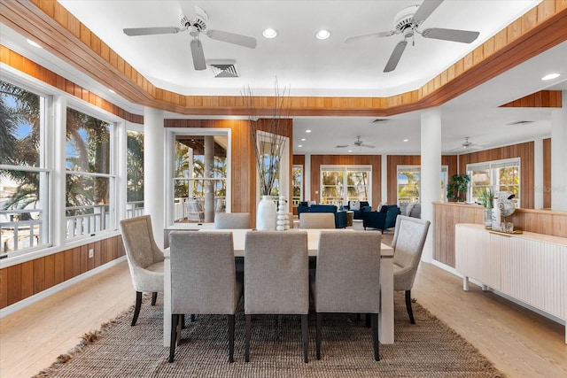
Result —
<instances>
[{"instance_id":1,"label":"far window partly hidden behind the right round white column","mask_svg":"<svg viewBox=\"0 0 567 378\"><path fill-rule=\"evenodd\" d=\"M421 202L421 166L398 166L397 170L398 204ZM440 200L445 201L447 198L447 166L441 166L439 184L441 186Z\"/></svg>"}]
</instances>

